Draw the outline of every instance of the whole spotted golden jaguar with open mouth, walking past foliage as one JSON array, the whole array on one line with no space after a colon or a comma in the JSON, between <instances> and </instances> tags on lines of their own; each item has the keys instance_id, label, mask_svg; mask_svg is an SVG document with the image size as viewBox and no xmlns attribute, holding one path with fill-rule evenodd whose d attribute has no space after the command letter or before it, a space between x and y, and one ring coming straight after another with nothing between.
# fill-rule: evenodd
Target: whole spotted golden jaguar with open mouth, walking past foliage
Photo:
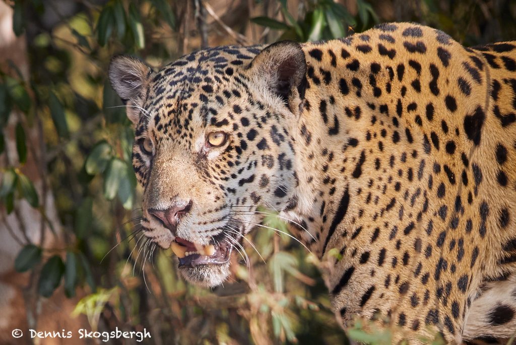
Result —
<instances>
[{"instance_id":1,"label":"whole spotted golden jaguar with open mouth, walking past foliage","mask_svg":"<svg viewBox=\"0 0 516 345\"><path fill-rule=\"evenodd\" d=\"M385 23L158 71L121 55L108 75L135 128L144 233L192 284L223 283L264 206L328 263L343 326L516 332L516 41Z\"/></svg>"}]
</instances>

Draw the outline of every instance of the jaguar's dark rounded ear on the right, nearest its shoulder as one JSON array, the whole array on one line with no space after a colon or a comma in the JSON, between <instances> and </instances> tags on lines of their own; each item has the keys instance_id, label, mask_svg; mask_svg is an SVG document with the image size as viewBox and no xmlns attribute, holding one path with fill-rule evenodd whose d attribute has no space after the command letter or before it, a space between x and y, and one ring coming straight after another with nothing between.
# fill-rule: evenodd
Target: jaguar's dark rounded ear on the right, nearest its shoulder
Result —
<instances>
[{"instance_id":1,"label":"jaguar's dark rounded ear on the right, nearest its shoulder","mask_svg":"<svg viewBox=\"0 0 516 345\"><path fill-rule=\"evenodd\" d=\"M272 91L291 112L297 113L307 84L307 62L301 44L281 41L267 46L254 57L250 70L260 86Z\"/></svg>"}]
</instances>

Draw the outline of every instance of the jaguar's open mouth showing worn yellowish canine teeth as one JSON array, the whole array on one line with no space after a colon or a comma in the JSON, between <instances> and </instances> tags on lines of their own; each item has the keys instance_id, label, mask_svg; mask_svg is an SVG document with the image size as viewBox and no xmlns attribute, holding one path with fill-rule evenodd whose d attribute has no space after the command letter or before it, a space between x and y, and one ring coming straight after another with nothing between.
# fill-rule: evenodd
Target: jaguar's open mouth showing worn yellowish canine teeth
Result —
<instances>
[{"instance_id":1,"label":"jaguar's open mouth showing worn yellowish canine teeth","mask_svg":"<svg viewBox=\"0 0 516 345\"><path fill-rule=\"evenodd\" d=\"M179 258L179 266L221 265L229 261L231 246L227 241L201 245L176 237L170 248Z\"/></svg>"}]
</instances>

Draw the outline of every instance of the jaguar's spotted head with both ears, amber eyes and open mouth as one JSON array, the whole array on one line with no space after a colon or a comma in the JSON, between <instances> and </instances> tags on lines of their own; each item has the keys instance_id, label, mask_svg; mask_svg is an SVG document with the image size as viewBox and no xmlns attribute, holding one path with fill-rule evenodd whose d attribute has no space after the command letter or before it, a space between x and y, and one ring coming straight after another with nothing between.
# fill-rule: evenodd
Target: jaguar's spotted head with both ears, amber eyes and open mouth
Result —
<instances>
[{"instance_id":1,"label":"jaguar's spotted head with both ears, amber eyes and open mouth","mask_svg":"<svg viewBox=\"0 0 516 345\"><path fill-rule=\"evenodd\" d=\"M293 42L209 49L157 72L112 60L111 84L135 125L144 234L171 248L191 283L221 284L260 222L256 208L281 210L293 197L304 71Z\"/></svg>"}]
</instances>

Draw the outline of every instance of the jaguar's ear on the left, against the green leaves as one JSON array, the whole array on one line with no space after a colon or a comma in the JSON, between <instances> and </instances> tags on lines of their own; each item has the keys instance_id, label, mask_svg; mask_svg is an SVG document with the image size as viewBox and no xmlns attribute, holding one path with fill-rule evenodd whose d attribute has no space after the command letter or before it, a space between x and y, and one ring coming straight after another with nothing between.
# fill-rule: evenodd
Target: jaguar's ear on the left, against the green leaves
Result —
<instances>
[{"instance_id":1,"label":"jaguar's ear on the left, against the green leaves","mask_svg":"<svg viewBox=\"0 0 516 345\"><path fill-rule=\"evenodd\" d=\"M137 107L143 104L144 90L149 84L152 69L145 62L130 56L119 55L109 64L109 82L127 107L127 117L135 124L140 118Z\"/></svg>"}]
</instances>

